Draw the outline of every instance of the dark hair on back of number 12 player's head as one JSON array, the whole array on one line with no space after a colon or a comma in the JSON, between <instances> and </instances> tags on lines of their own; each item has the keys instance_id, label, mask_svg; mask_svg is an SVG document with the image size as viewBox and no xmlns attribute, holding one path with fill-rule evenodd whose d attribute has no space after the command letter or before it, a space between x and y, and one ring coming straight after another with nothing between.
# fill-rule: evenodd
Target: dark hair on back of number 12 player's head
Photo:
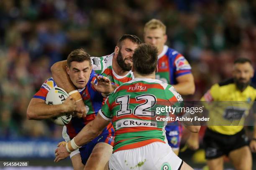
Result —
<instances>
[{"instance_id":1,"label":"dark hair on back of number 12 player's head","mask_svg":"<svg viewBox=\"0 0 256 170\"><path fill-rule=\"evenodd\" d=\"M157 67L157 48L143 43L133 53L133 67L141 75L151 74Z\"/></svg>"}]
</instances>

